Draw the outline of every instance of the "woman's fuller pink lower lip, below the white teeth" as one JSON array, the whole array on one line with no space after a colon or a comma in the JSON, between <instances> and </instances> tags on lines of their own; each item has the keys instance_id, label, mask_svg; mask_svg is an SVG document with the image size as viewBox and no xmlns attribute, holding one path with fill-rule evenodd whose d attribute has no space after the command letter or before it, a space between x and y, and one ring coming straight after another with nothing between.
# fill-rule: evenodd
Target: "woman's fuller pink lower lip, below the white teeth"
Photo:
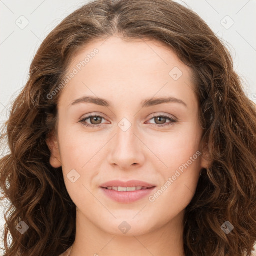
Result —
<instances>
[{"instance_id":1,"label":"woman's fuller pink lower lip, below the white teeth","mask_svg":"<svg viewBox=\"0 0 256 256\"><path fill-rule=\"evenodd\" d=\"M120 203L130 203L130 202L135 202L145 197L146 195L149 195L152 192L152 190L155 188L155 186L147 189L141 189L141 190L135 190L135 191L124 191L124 192L116 191L113 189L106 189L103 187L100 187L100 188L103 190L106 196L113 199L114 201L120 202Z\"/></svg>"}]
</instances>

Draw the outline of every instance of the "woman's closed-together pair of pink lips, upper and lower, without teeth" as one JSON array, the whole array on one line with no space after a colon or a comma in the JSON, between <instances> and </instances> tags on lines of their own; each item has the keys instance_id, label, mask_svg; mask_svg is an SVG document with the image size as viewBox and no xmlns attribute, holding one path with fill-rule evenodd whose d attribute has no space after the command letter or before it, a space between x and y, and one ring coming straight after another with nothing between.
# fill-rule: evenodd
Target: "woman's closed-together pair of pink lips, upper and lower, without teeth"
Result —
<instances>
[{"instance_id":1,"label":"woman's closed-together pair of pink lips, upper and lower, without teeth","mask_svg":"<svg viewBox=\"0 0 256 256\"><path fill-rule=\"evenodd\" d=\"M132 187L132 186L144 186L148 187L147 189L142 190L135 190L135 191L116 191L116 190L109 190L105 187L107 186L122 186L122 187ZM100 186L100 189L102 192L109 197L110 199L119 202L119 203L131 203L135 202L137 200L142 199L146 195L149 195L152 193L152 190L156 188L155 185L149 184L144 181L139 180L129 180L126 182L120 181L120 180L112 180L108 181Z\"/></svg>"}]
</instances>

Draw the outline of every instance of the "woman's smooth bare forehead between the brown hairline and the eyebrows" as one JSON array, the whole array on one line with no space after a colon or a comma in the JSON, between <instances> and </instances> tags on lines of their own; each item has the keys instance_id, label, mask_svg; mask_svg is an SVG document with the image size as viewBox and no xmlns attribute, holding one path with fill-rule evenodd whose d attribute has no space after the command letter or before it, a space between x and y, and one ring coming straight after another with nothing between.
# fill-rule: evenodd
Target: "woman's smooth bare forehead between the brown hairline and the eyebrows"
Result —
<instances>
[{"instance_id":1,"label":"woman's smooth bare forehead between the brown hairline and the eyebrows","mask_svg":"<svg viewBox=\"0 0 256 256\"><path fill-rule=\"evenodd\" d=\"M75 54L67 75L74 70L66 92L62 91L65 102L86 92L102 97L146 93L148 97L167 91L177 94L177 89L192 91L191 69L157 40L111 36L91 41Z\"/></svg>"}]
</instances>

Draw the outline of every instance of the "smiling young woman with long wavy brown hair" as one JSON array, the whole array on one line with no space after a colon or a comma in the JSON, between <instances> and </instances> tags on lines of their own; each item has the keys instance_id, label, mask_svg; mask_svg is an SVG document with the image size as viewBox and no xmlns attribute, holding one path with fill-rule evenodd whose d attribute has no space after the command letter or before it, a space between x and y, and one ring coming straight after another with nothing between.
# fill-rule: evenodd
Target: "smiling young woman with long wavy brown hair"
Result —
<instances>
[{"instance_id":1,"label":"smiling young woman with long wavy brown hair","mask_svg":"<svg viewBox=\"0 0 256 256\"><path fill-rule=\"evenodd\" d=\"M5 255L251 255L255 121L191 10L82 6L43 41L6 122Z\"/></svg>"}]
</instances>

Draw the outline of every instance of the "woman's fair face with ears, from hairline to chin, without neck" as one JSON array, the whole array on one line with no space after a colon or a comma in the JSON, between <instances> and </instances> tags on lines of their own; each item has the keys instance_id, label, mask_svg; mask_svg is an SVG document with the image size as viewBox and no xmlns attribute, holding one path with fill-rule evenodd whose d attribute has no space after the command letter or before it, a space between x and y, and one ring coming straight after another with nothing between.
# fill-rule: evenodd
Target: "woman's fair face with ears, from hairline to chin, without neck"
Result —
<instances>
[{"instance_id":1,"label":"woman's fair face with ears, from hairline to chin, without neck","mask_svg":"<svg viewBox=\"0 0 256 256\"><path fill-rule=\"evenodd\" d=\"M57 136L47 144L79 219L119 235L119 225L128 223L129 234L139 235L181 216L208 166L199 151L190 68L158 41L111 36L87 44L67 75L72 78L60 92ZM101 187L112 180L153 187Z\"/></svg>"}]
</instances>

